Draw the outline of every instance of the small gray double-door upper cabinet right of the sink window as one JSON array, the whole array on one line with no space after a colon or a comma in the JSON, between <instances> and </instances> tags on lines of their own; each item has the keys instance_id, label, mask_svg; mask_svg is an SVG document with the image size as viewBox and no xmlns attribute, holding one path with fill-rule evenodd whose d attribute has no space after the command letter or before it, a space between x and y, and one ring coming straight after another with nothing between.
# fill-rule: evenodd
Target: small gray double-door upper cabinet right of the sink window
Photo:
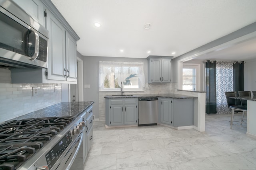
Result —
<instances>
[{"instance_id":1,"label":"small gray double-door upper cabinet right of the sink window","mask_svg":"<svg viewBox=\"0 0 256 170\"><path fill-rule=\"evenodd\" d=\"M168 56L148 56L148 83L171 81L171 59Z\"/></svg>"}]
</instances>

